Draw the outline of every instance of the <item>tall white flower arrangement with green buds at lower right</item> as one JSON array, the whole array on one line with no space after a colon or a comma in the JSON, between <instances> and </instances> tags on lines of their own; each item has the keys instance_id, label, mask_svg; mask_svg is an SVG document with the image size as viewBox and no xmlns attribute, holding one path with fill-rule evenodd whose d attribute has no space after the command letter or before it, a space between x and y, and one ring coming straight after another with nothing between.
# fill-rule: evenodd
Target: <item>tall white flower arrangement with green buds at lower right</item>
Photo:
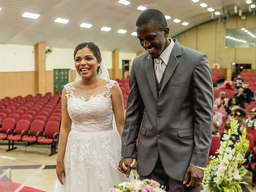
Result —
<instances>
[{"instance_id":1,"label":"tall white flower arrangement with green buds at lower right","mask_svg":"<svg viewBox=\"0 0 256 192\"><path fill-rule=\"evenodd\" d=\"M249 148L249 140L246 139L246 129L242 131L242 136L239 136L240 142L234 144L232 149L232 134L238 134L238 121L230 122L231 129L228 134L224 134L224 142L220 142L220 148L217 150L218 157L213 157L208 166L204 169L204 179L202 187L207 192L242 192L240 184L242 177L248 172L242 164L245 153Z\"/></svg>"}]
</instances>

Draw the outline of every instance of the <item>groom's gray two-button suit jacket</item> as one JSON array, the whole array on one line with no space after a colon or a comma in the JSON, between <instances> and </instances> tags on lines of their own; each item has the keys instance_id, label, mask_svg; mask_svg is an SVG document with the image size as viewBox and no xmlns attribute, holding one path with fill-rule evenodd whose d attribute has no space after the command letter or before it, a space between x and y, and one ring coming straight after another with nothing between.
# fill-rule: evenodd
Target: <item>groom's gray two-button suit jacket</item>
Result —
<instances>
[{"instance_id":1,"label":"groom's gray two-button suit jacket","mask_svg":"<svg viewBox=\"0 0 256 192\"><path fill-rule=\"evenodd\" d=\"M137 158L138 174L147 176L159 154L168 176L182 181L189 164L207 165L213 86L207 56L173 40L159 92L154 59L144 53L133 61L122 156Z\"/></svg>"}]
</instances>

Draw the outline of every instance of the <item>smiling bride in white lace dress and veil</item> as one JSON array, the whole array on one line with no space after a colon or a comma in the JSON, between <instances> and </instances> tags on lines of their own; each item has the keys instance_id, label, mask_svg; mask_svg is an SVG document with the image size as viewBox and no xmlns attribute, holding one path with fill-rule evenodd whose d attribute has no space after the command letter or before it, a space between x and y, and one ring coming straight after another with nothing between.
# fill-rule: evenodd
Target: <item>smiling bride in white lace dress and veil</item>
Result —
<instances>
[{"instance_id":1,"label":"smiling bride in white lace dress and veil","mask_svg":"<svg viewBox=\"0 0 256 192\"><path fill-rule=\"evenodd\" d=\"M56 191L107 192L133 179L118 171L124 127L122 92L116 81L109 80L96 44L80 43L74 60L76 80L62 92Z\"/></svg>"}]
</instances>

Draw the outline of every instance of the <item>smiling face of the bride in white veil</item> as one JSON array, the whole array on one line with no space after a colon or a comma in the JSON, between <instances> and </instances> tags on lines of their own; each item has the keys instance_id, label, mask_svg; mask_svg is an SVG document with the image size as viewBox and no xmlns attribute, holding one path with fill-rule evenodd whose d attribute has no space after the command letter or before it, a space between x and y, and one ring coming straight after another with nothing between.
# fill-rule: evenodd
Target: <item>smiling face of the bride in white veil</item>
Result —
<instances>
[{"instance_id":1,"label":"smiling face of the bride in white veil","mask_svg":"<svg viewBox=\"0 0 256 192\"><path fill-rule=\"evenodd\" d=\"M85 47L76 52L75 55L75 67L78 74L85 79L90 79L94 75L97 75L97 68L100 63L97 62L93 52Z\"/></svg>"}]
</instances>

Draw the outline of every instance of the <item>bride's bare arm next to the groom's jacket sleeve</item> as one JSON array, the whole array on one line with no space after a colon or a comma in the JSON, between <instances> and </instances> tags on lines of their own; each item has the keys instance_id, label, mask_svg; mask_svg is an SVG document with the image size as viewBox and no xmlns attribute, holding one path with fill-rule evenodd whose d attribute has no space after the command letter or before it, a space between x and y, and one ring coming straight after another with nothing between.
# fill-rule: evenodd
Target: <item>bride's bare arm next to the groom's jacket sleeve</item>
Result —
<instances>
[{"instance_id":1,"label":"bride's bare arm next to the groom's jacket sleeve","mask_svg":"<svg viewBox=\"0 0 256 192\"><path fill-rule=\"evenodd\" d=\"M118 130L118 133L120 134L120 137L122 138L122 133L124 129L124 101L123 101L123 95L120 87L118 84L115 84L112 88L112 106L116 121L116 127Z\"/></svg>"}]
</instances>

